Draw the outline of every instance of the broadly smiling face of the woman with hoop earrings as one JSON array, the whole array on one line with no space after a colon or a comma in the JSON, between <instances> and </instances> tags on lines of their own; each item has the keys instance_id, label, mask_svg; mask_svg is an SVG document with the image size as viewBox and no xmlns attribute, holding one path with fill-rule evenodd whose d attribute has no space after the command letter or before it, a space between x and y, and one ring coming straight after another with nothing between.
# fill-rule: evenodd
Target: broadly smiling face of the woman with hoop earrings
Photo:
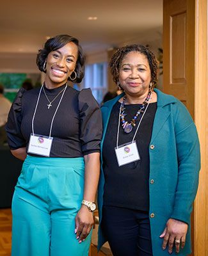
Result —
<instances>
[{"instance_id":1,"label":"broadly smiling face of the woman with hoop earrings","mask_svg":"<svg viewBox=\"0 0 208 256\"><path fill-rule=\"evenodd\" d=\"M77 45L69 42L56 51L49 52L46 63L45 85L56 88L65 83L76 68Z\"/></svg>"}]
</instances>

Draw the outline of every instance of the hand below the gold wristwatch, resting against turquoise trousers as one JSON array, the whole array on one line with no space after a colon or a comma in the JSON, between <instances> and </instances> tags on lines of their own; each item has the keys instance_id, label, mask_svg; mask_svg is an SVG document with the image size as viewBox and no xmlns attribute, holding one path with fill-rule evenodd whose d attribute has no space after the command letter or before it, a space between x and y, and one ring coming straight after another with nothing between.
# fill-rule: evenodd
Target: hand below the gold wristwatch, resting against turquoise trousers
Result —
<instances>
[{"instance_id":1,"label":"hand below the gold wristwatch, resting against turquoise trousers","mask_svg":"<svg viewBox=\"0 0 208 256\"><path fill-rule=\"evenodd\" d=\"M79 239L79 243L84 241L88 234L90 234L93 222L93 213L88 210L86 205L82 205L75 218L75 234L77 239Z\"/></svg>"}]
</instances>

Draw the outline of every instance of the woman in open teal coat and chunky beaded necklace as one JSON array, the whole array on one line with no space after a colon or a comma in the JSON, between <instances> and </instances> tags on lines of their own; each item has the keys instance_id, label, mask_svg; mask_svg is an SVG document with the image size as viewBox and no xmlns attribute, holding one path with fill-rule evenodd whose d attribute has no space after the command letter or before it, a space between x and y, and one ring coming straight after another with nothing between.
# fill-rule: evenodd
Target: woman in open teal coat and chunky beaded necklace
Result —
<instances>
[{"instance_id":1,"label":"woman in open teal coat and chunky beaded necklace","mask_svg":"<svg viewBox=\"0 0 208 256\"><path fill-rule=\"evenodd\" d=\"M110 62L124 93L102 106L99 248L115 256L188 255L200 149L186 107L154 86L157 60L143 45Z\"/></svg>"}]
</instances>

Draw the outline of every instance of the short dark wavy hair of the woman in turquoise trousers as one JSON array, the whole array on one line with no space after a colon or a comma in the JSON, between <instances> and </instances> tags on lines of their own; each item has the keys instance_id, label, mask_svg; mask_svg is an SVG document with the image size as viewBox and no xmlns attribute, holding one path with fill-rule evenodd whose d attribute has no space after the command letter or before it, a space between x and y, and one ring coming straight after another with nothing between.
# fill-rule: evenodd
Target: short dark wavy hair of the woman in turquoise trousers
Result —
<instances>
[{"instance_id":1,"label":"short dark wavy hair of the woman in turquoise trousers","mask_svg":"<svg viewBox=\"0 0 208 256\"><path fill-rule=\"evenodd\" d=\"M79 45L79 40L77 38L72 37L70 35L57 35L52 38L49 38L44 45L44 49L40 49L37 54L36 58L36 65L38 66L39 70L42 72L44 71L44 63L45 60L49 54L49 52L56 51L63 47L64 45L68 44L69 42L73 42L78 47L78 57L77 57L77 63L75 72L77 74L76 79L73 81L68 77L69 81L72 81L73 83L81 83L83 77L84 77L84 62L85 57L83 54L83 49L81 45Z\"/></svg>"}]
</instances>

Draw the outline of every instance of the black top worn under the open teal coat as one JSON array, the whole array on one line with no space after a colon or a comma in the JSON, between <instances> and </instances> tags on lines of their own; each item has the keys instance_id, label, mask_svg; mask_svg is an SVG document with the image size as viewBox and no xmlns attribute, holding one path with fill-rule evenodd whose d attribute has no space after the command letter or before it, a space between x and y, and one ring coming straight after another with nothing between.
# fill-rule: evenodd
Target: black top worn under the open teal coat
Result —
<instances>
[{"instance_id":1,"label":"black top worn under the open teal coat","mask_svg":"<svg viewBox=\"0 0 208 256\"><path fill-rule=\"evenodd\" d=\"M148 211L148 179L150 172L148 147L152 136L152 125L156 109L156 102L148 105L148 109L141 120L140 128L136 133L135 140L140 160L119 167L115 147L120 102L116 102L115 106L113 106L102 152L105 176L103 205ZM130 122L137 111L138 104L125 105L125 113L127 114L125 120ZM120 123L118 146L132 141L140 118L141 115L136 121L136 127L129 134L124 132Z\"/></svg>"}]
</instances>

